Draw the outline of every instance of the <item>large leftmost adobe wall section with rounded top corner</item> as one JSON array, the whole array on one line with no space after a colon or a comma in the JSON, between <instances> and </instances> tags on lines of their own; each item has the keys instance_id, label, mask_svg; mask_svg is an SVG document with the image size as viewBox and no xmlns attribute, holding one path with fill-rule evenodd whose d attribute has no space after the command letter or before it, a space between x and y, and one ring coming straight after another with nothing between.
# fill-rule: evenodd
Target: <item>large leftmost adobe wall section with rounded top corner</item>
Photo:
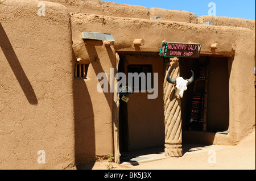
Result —
<instances>
[{"instance_id":1,"label":"large leftmost adobe wall section with rounded top corner","mask_svg":"<svg viewBox=\"0 0 256 181\"><path fill-rule=\"evenodd\" d=\"M75 167L70 15L38 2L0 5L0 169Z\"/></svg>"}]
</instances>

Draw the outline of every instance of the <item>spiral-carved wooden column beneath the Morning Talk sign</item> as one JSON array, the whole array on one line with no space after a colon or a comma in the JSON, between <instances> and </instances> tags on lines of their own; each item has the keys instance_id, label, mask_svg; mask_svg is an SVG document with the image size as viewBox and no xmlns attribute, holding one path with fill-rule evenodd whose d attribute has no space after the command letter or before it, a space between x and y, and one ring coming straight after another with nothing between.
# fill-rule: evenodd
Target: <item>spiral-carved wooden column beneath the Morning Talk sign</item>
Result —
<instances>
[{"instance_id":1,"label":"spiral-carved wooden column beneath the Morning Talk sign","mask_svg":"<svg viewBox=\"0 0 256 181\"><path fill-rule=\"evenodd\" d=\"M181 107L180 99L175 96L175 85L166 80L168 70L172 69L170 78L180 75L179 59L170 58L170 62L164 64L164 126L165 126L165 149L164 153L170 157L181 157Z\"/></svg>"}]
</instances>

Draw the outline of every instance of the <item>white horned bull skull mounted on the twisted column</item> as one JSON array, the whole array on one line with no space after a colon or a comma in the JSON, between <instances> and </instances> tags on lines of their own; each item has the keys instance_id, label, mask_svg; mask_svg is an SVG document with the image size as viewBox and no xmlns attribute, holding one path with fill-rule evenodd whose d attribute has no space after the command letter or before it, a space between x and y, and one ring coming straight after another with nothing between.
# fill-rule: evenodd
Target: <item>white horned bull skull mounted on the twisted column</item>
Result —
<instances>
[{"instance_id":1,"label":"white horned bull skull mounted on the twisted column","mask_svg":"<svg viewBox=\"0 0 256 181\"><path fill-rule=\"evenodd\" d=\"M192 71L192 70L191 70ZM187 85L191 84L194 80L194 73L192 71L192 76L189 79L183 79L182 77L170 78L171 69L167 74L167 81L169 83L175 84L175 96L177 99L183 98L183 93L187 90Z\"/></svg>"}]
</instances>

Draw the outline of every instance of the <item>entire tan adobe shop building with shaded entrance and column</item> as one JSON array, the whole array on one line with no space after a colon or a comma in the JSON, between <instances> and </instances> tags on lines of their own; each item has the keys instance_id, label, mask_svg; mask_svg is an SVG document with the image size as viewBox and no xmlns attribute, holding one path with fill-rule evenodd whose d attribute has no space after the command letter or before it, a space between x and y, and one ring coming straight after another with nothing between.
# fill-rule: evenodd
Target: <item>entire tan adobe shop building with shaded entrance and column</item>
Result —
<instances>
[{"instance_id":1,"label":"entire tan adobe shop building with shaded entrance and column","mask_svg":"<svg viewBox=\"0 0 256 181\"><path fill-rule=\"evenodd\" d=\"M200 54L160 56L162 43L200 45ZM0 169L76 169L110 155L119 163L123 151L158 146L180 157L184 142L236 145L255 129L255 20L6 0L0 47ZM167 73L191 70L178 99ZM113 76L129 72L152 73L156 98L139 91L125 102L110 91ZM100 73L108 92L97 91Z\"/></svg>"}]
</instances>

